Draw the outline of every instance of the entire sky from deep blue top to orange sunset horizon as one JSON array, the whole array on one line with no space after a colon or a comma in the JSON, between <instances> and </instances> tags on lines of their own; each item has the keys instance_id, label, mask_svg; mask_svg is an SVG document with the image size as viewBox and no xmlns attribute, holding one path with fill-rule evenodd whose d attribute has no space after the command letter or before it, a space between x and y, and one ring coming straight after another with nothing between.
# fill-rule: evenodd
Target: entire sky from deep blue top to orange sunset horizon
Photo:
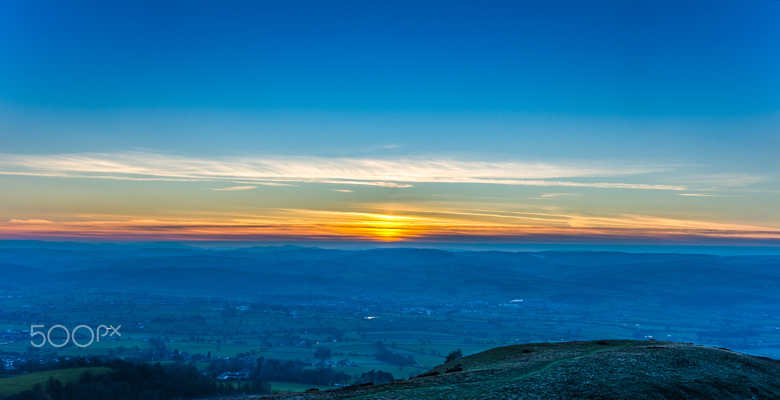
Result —
<instances>
[{"instance_id":1,"label":"entire sky from deep blue top to orange sunset horizon","mask_svg":"<svg viewBox=\"0 0 780 400\"><path fill-rule=\"evenodd\" d=\"M0 238L780 246L780 2L0 5Z\"/></svg>"}]
</instances>

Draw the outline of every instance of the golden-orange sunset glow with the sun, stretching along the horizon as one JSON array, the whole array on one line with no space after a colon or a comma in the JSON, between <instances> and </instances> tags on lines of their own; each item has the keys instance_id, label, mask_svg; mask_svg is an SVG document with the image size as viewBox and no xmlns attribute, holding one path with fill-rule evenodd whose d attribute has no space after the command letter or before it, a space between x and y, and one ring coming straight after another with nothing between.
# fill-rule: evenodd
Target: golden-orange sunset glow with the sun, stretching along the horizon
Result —
<instances>
[{"instance_id":1,"label":"golden-orange sunset glow with the sun, stretching along the horizon","mask_svg":"<svg viewBox=\"0 0 780 400\"><path fill-rule=\"evenodd\" d=\"M262 216L232 219L102 219L62 221L11 219L0 237L91 240L358 240L358 241L631 241L753 240L777 242L780 230L729 223L624 214L484 209L399 209L367 212L273 209ZM372 212L373 211L373 212ZM520 214L520 215L518 215ZM103 216L105 218L105 216Z\"/></svg>"}]
</instances>

